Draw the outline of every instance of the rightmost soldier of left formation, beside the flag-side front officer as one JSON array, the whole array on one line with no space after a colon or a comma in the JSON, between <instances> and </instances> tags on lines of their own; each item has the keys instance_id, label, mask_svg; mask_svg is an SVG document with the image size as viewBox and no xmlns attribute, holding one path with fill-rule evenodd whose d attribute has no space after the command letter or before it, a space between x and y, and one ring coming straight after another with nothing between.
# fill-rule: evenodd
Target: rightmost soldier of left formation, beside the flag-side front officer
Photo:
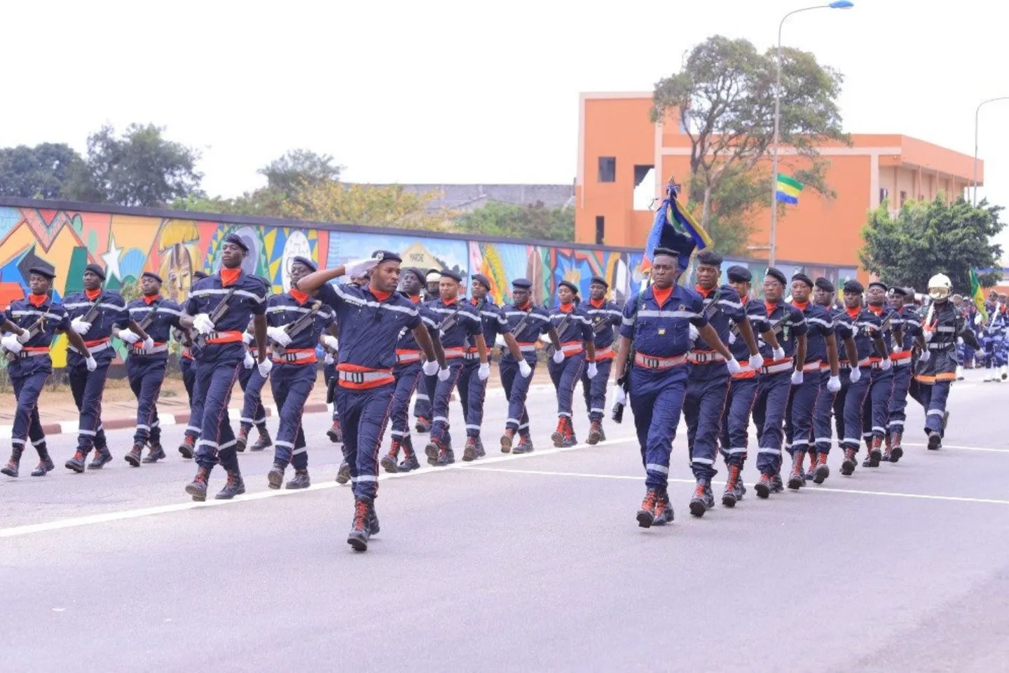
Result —
<instances>
[{"instance_id":1,"label":"rightmost soldier of left formation, beside the flag-side front officer","mask_svg":"<svg viewBox=\"0 0 1009 673\"><path fill-rule=\"evenodd\" d=\"M606 385L609 369L613 364L614 330L620 328L623 312L615 302L606 301L609 284L605 278L595 276L588 286L588 301L581 306L592 323L595 344L595 368L598 373L588 377L588 371L581 374L581 387L585 394L585 409L588 410L588 437L586 444L598 444L606 439L602 431L602 415L605 414Z\"/></svg>"}]
</instances>

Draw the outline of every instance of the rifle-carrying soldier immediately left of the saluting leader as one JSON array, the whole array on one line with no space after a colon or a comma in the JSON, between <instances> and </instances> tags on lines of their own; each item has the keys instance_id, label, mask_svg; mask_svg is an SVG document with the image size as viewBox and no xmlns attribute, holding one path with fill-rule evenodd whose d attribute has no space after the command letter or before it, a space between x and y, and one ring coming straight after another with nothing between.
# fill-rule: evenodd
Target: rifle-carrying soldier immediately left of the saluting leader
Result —
<instances>
[{"instance_id":1,"label":"rifle-carrying soldier immediately left of the saluting leader","mask_svg":"<svg viewBox=\"0 0 1009 673\"><path fill-rule=\"evenodd\" d=\"M269 385L279 417L273 466L266 474L270 488L281 487L288 465L295 468L288 488L311 485L302 414L318 376L316 346L334 318L333 310L317 299L318 291L304 293L297 289L299 278L316 270L315 262L308 257L295 257L291 263L291 290L266 300L266 338L271 342L273 359Z\"/></svg>"}]
</instances>

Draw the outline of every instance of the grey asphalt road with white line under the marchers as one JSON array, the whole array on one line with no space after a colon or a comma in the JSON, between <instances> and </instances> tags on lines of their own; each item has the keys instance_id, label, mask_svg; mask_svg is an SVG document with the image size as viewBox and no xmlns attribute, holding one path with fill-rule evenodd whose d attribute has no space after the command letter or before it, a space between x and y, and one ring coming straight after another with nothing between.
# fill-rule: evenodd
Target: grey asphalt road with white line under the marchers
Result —
<instances>
[{"instance_id":1,"label":"grey asphalt road with white line under the marchers","mask_svg":"<svg viewBox=\"0 0 1009 673\"><path fill-rule=\"evenodd\" d=\"M310 490L268 490L271 457L245 453L248 493L223 504L189 500L174 450L129 467L129 431L81 475L59 436L55 472L0 481L2 670L1006 670L1009 382L970 373L943 450L912 403L900 463L842 477L831 454L822 486L700 520L678 441L665 529L635 521L630 414L605 445L383 478L365 554L326 415L306 417ZM532 400L540 447L553 404ZM503 411L489 401L488 448Z\"/></svg>"}]
</instances>

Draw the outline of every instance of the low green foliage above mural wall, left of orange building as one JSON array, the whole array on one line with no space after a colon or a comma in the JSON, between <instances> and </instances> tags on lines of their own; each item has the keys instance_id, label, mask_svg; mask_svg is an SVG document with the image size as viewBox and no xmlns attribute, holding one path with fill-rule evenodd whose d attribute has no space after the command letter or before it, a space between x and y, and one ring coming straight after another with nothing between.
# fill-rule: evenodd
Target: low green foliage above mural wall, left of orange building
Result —
<instances>
[{"instance_id":1,"label":"low green foliage above mural wall, left of orange building","mask_svg":"<svg viewBox=\"0 0 1009 673\"><path fill-rule=\"evenodd\" d=\"M574 240L574 209L547 208L543 202L517 206L490 202L455 220L456 231L511 238Z\"/></svg>"}]
</instances>

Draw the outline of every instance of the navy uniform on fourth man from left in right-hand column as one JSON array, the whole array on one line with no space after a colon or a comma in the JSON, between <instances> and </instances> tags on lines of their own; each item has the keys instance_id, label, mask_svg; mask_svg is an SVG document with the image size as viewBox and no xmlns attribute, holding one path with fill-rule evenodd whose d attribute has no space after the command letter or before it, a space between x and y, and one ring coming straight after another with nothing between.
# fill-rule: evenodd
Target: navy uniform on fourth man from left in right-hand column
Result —
<instances>
[{"instance_id":1,"label":"navy uniform on fourth man from left in right-hand column","mask_svg":"<svg viewBox=\"0 0 1009 673\"><path fill-rule=\"evenodd\" d=\"M767 304L768 322L778 337L778 345L785 357L776 360L770 345L760 340L764 366L761 367L757 402L754 404L754 424L757 426L757 469L761 474L774 476L781 470L781 444L785 410L792 388L792 371L795 368L795 346L798 337L806 333L806 319L791 304Z\"/></svg>"}]
</instances>

